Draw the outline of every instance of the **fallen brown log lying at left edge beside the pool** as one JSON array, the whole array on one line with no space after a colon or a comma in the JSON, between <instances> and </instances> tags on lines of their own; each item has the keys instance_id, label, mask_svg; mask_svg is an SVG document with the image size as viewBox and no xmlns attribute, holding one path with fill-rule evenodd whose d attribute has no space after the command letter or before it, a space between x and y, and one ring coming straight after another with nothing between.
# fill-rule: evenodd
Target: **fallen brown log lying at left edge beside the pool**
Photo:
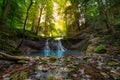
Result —
<instances>
[{"instance_id":1,"label":"fallen brown log lying at left edge beside the pool","mask_svg":"<svg viewBox=\"0 0 120 80\"><path fill-rule=\"evenodd\" d=\"M0 59L4 59L4 60L11 60L11 61L18 61L18 60L25 60L25 61L30 61L30 58L28 57L22 57L22 56L11 56L9 54L0 52Z\"/></svg>"}]
</instances>

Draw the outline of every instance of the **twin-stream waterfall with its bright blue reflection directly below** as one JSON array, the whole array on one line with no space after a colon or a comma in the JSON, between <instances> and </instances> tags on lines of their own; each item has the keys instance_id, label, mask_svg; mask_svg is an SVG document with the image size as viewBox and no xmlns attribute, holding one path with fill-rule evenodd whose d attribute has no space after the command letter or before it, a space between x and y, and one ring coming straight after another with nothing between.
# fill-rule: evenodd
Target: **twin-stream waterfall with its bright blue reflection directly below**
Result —
<instances>
[{"instance_id":1,"label":"twin-stream waterfall with its bright blue reflection directly below","mask_svg":"<svg viewBox=\"0 0 120 80\"><path fill-rule=\"evenodd\" d=\"M44 54L62 56L66 49L63 47L61 40L46 40Z\"/></svg>"}]
</instances>

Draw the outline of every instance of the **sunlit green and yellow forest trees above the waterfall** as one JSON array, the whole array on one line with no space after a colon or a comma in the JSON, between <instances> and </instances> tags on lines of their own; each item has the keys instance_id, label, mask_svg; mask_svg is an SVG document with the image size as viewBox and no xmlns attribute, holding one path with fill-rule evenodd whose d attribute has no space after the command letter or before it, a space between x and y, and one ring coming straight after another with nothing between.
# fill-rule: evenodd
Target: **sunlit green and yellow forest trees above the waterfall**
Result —
<instances>
[{"instance_id":1,"label":"sunlit green and yellow forest trees above the waterfall","mask_svg":"<svg viewBox=\"0 0 120 80\"><path fill-rule=\"evenodd\" d=\"M44 37L70 36L87 26L114 32L120 24L119 0L1 0L3 26ZM101 25L103 27L101 27Z\"/></svg>"}]
</instances>

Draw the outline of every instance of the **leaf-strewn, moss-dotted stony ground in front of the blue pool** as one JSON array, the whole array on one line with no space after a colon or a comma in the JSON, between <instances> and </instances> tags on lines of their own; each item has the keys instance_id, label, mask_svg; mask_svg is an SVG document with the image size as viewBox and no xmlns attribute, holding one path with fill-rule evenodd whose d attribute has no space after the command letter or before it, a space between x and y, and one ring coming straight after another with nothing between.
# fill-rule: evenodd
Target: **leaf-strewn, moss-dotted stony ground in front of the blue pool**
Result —
<instances>
[{"instance_id":1,"label":"leaf-strewn, moss-dotted stony ground in front of the blue pool","mask_svg":"<svg viewBox=\"0 0 120 80\"><path fill-rule=\"evenodd\" d=\"M0 80L120 80L120 55L31 57L30 62L0 60ZM4 63L3 63L4 62Z\"/></svg>"}]
</instances>

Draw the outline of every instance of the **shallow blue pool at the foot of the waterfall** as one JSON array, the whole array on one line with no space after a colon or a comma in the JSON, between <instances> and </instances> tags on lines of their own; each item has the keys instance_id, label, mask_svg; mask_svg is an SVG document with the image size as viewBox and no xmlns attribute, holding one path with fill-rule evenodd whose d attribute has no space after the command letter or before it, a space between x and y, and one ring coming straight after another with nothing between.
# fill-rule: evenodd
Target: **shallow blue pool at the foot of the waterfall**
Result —
<instances>
[{"instance_id":1,"label":"shallow blue pool at the foot of the waterfall","mask_svg":"<svg viewBox=\"0 0 120 80\"><path fill-rule=\"evenodd\" d=\"M26 56L57 56L62 57L65 55L81 55L83 52L76 50L66 50L66 51L53 51L53 50L43 50L31 53L25 53Z\"/></svg>"}]
</instances>

